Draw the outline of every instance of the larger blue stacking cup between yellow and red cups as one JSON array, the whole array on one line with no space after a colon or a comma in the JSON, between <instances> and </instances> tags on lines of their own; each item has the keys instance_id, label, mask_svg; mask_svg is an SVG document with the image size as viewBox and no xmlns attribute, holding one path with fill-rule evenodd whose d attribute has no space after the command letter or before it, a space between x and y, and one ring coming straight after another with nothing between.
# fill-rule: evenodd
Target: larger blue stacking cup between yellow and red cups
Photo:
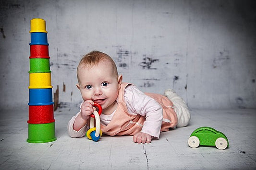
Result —
<instances>
[{"instance_id":1,"label":"larger blue stacking cup between yellow and red cups","mask_svg":"<svg viewBox=\"0 0 256 170\"><path fill-rule=\"evenodd\" d=\"M50 105L52 102L52 89L29 89L29 103L31 106Z\"/></svg>"}]
</instances>

